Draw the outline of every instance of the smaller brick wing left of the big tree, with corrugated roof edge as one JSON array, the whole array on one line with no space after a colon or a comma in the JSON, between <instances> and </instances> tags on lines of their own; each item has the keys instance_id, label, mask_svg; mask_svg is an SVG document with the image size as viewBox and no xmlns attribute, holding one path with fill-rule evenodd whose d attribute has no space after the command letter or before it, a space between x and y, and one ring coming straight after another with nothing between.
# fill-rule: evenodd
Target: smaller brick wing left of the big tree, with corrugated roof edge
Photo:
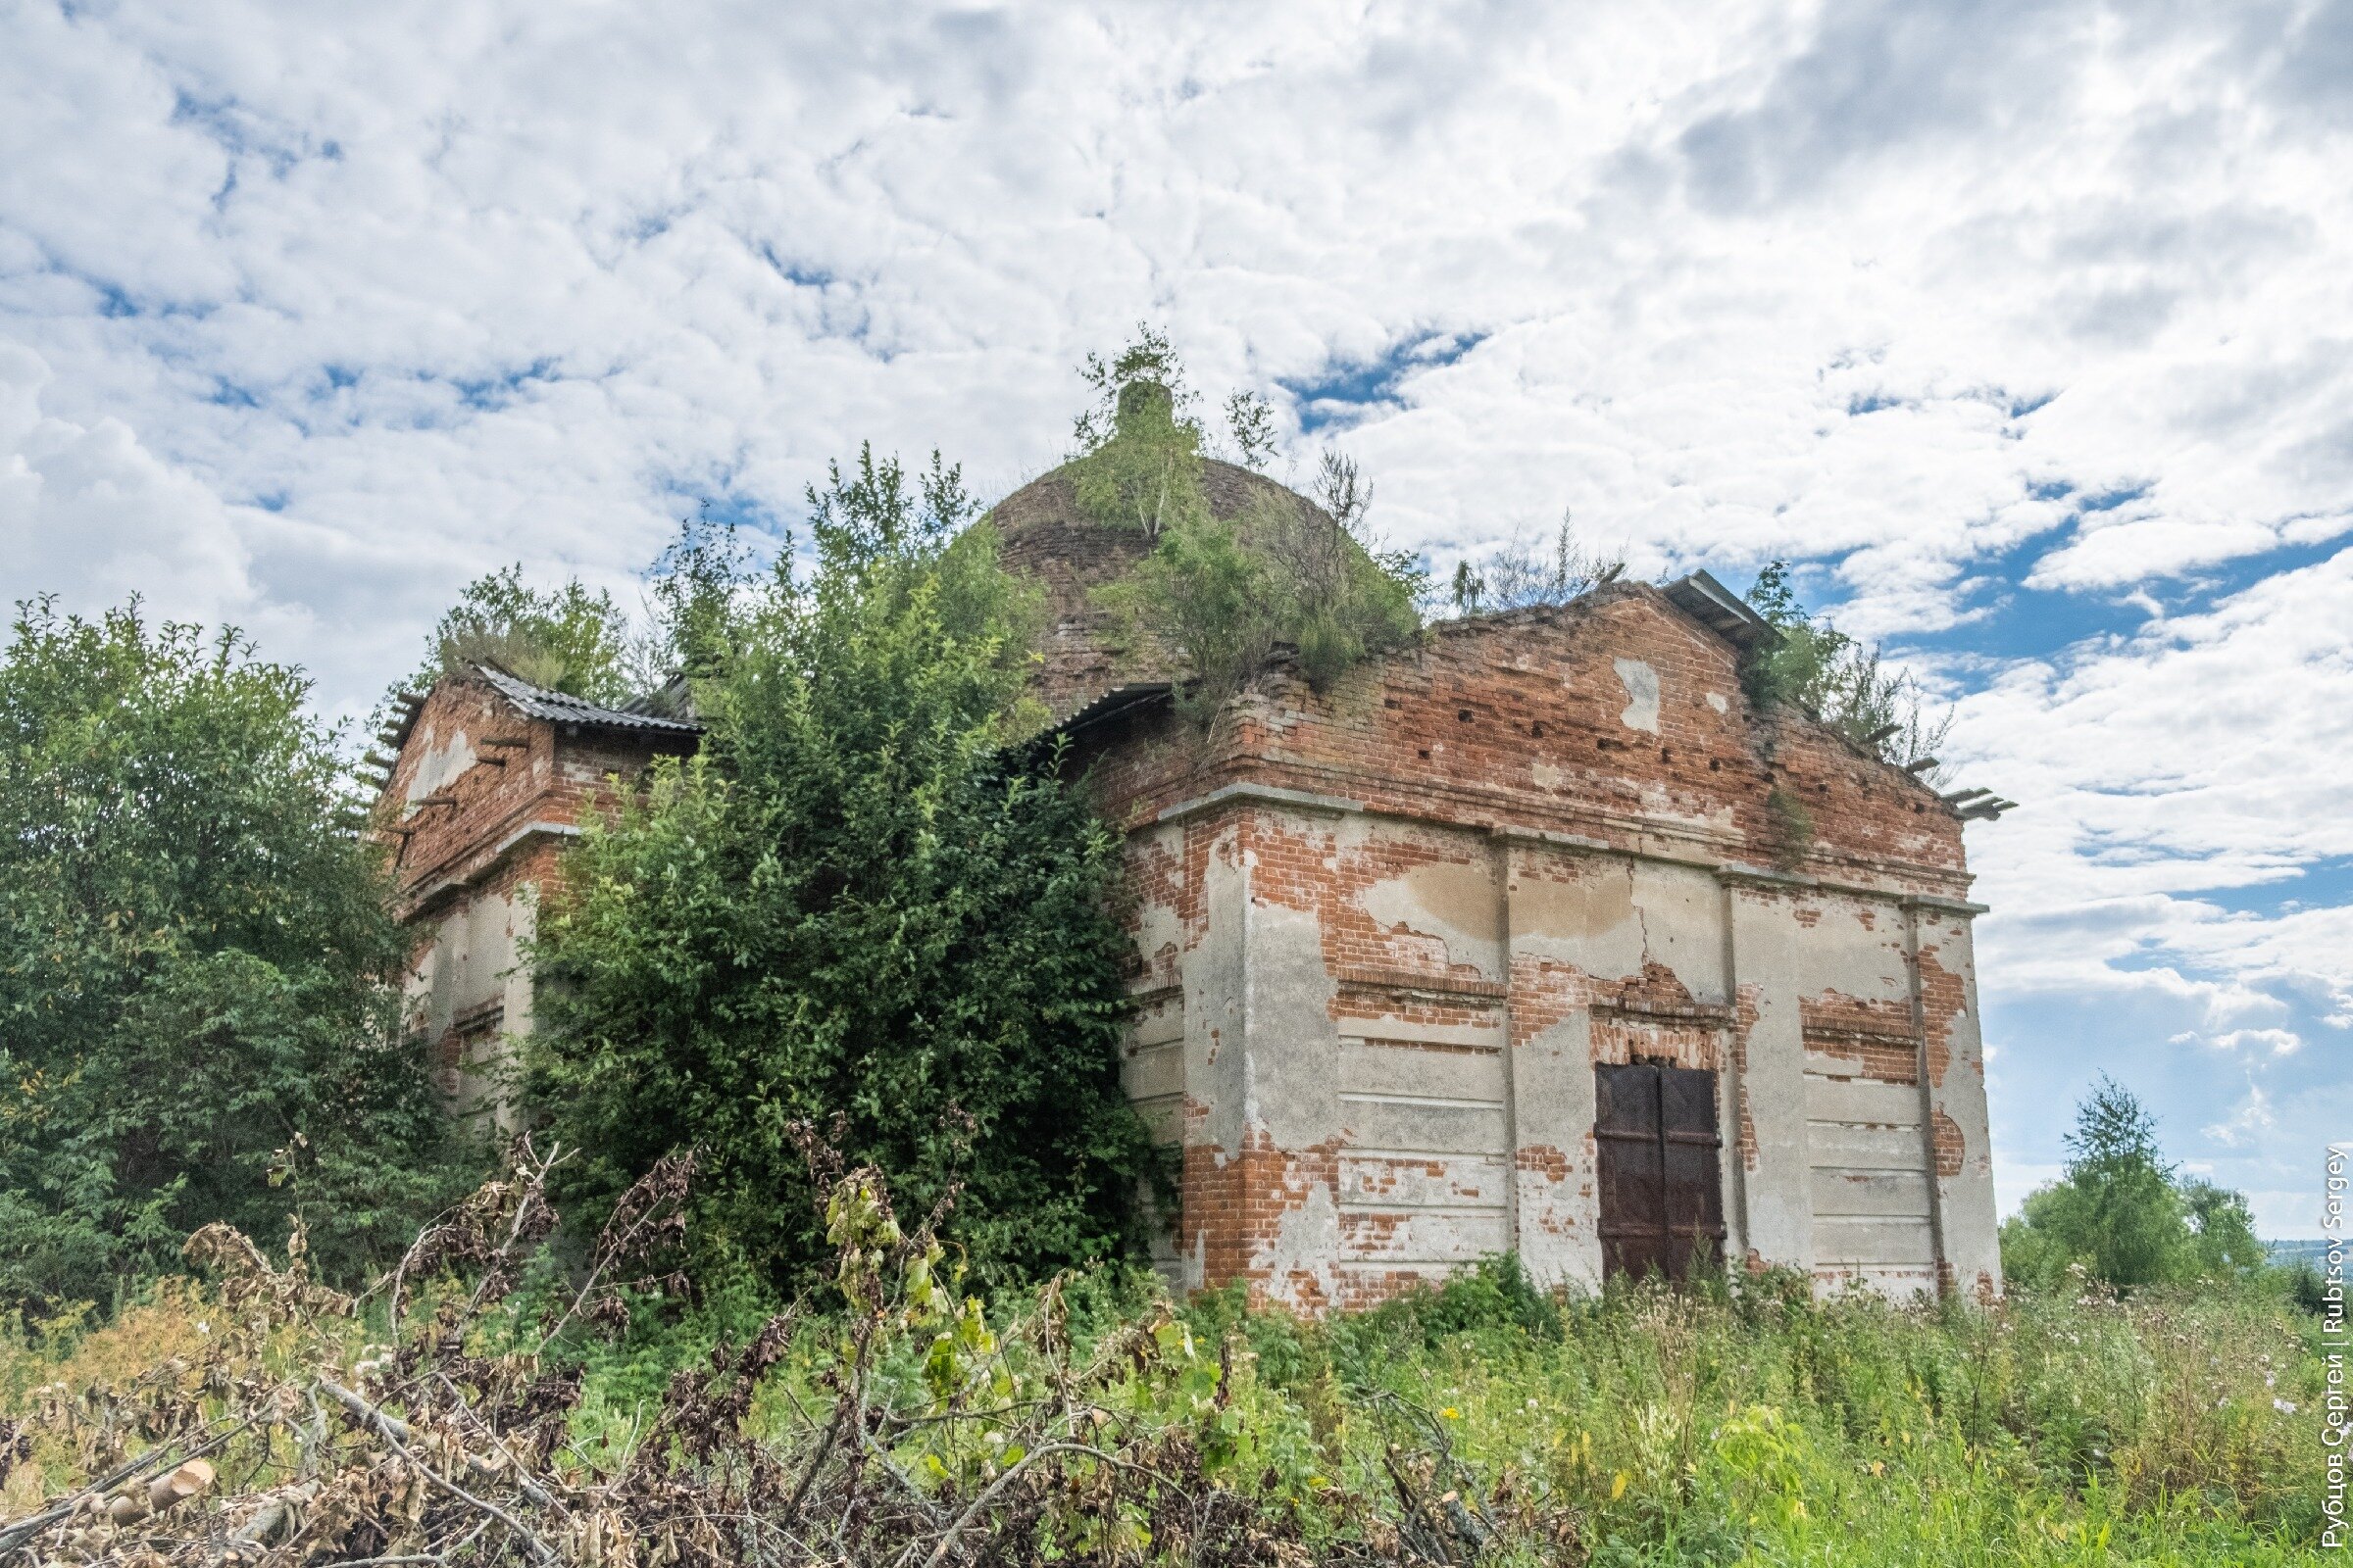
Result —
<instances>
[{"instance_id":1,"label":"smaller brick wing left of the big tree, with corrugated roof edge","mask_svg":"<svg viewBox=\"0 0 2353 1568\"><path fill-rule=\"evenodd\" d=\"M598 708L501 670L442 679L402 703L379 797L395 912L414 933L409 1027L461 1114L504 1119L501 1041L532 1027L539 889L581 813L614 778L694 750L692 719Z\"/></svg>"}]
</instances>

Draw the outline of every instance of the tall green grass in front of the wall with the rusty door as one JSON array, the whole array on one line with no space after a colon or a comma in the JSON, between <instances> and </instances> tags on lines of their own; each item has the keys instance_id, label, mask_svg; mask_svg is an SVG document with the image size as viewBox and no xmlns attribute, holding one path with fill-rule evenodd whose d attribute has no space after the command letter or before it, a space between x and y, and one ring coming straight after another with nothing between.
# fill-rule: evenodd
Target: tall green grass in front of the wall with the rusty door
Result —
<instances>
[{"instance_id":1,"label":"tall green grass in front of the wall with the rusty door","mask_svg":"<svg viewBox=\"0 0 2353 1568\"><path fill-rule=\"evenodd\" d=\"M1320 1326L1193 1316L1337 1486L1381 1493L1388 1443L1435 1434L1466 1495L1567 1514L1591 1561L2318 1561L2315 1328L2261 1286L1553 1305L1504 1260Z\"/></svg>"}]
</instances>

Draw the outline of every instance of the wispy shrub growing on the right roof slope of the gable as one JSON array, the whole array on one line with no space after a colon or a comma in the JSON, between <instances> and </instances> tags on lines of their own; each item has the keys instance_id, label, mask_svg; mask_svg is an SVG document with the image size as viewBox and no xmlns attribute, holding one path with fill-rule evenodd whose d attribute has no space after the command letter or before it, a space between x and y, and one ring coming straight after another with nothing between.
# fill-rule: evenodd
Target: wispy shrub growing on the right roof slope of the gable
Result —
<instances>
[{"instance_id":1,"label":"wispy shrub growing on the right roof slope of the gable","mask_svg":"<svg viewBox=\"0 0 2353 1568\"><path fill-rule=\"evenodd\" d=\"M1741 668L1748 701L1769 712L1788 703L1840 731L1882 762L1906 764L1937 755L1953 729L1920 682L1889 672L1880 649L1847 637L1828 618L1807 614L1791 583L1788 562L1758 574L1748 602L1772 625L1772 639Z\"/></svg>"}]
</instances>

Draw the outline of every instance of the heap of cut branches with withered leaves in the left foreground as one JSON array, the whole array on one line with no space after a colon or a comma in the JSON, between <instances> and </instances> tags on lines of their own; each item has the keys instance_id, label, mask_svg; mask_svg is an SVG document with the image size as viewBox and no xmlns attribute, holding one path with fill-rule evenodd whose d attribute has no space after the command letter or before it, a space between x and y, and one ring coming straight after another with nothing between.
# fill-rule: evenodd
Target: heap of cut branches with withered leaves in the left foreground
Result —
<instances>
[{"instance_id":1,"label":"heap of cut branches with withered leaves in the left foreground","mask_svg":"<svg viewBox=\"0 0 2353 1568\"><path fill-rule=\"evenodd\" d=\"M226 1227L200 1232L191 1262L221 1281L202 1356L80 1399L52 1389L26 1432L75 1443L89 1483L0 1523L0 1563L1304 1568L1299 1526L1235 1474L1231 1349L1195 1345L1162 1307L1082 1354L1059 1286L1007 1347L941 1276L953 1194L906 1229L875 1171L800 1135L840 1300L678 1371L635 1439L600 1453L574 1443L565 1335L619 1328L631 1286L680 1284L656 1262L682 1234L692 1157L619 1201L544 1328L501 1307L555 1227L562 1154L529 1140L360 1298L311 1281L299 1244L280 1269ZM398 1307L388 1345L360 1342L374 1302ZM814 1359L821 1396L751 1420L788 1356L802 1392ZM1468 1563L1492 1526L1438 1486L1442 1455L1395 1469L1409 1523L1367 1519L1355 1554Z\"/></svg>"}]
</instances>

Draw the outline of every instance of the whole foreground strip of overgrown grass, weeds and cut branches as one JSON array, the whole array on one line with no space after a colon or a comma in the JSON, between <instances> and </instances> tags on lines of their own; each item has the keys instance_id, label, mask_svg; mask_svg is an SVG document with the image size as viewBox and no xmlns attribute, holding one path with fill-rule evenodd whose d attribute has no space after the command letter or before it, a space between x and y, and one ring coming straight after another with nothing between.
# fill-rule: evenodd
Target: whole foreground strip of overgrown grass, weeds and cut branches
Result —
<instances>
[{"instance_id":1,"label":"whole foreground strip of overgrown grass, weeds and cut branches","mask_svg":"<svg viewBox=\"0 0 2353 1568\"><path fill-rule=\"evenodd\" d=\"M649 1293L685 1166L621 1204L584 1288L539 1258L529 1150L360 1300L205 1232L216 1284L0 1349L0 1554L2322 1561L2315 1326L2249 1286L1555 1302L1499 1260L1327 1324L1115 1272L984 1305L929 1220L809 1150L828 1286L781 1305Z\"/></svg>"}]
</instances>

